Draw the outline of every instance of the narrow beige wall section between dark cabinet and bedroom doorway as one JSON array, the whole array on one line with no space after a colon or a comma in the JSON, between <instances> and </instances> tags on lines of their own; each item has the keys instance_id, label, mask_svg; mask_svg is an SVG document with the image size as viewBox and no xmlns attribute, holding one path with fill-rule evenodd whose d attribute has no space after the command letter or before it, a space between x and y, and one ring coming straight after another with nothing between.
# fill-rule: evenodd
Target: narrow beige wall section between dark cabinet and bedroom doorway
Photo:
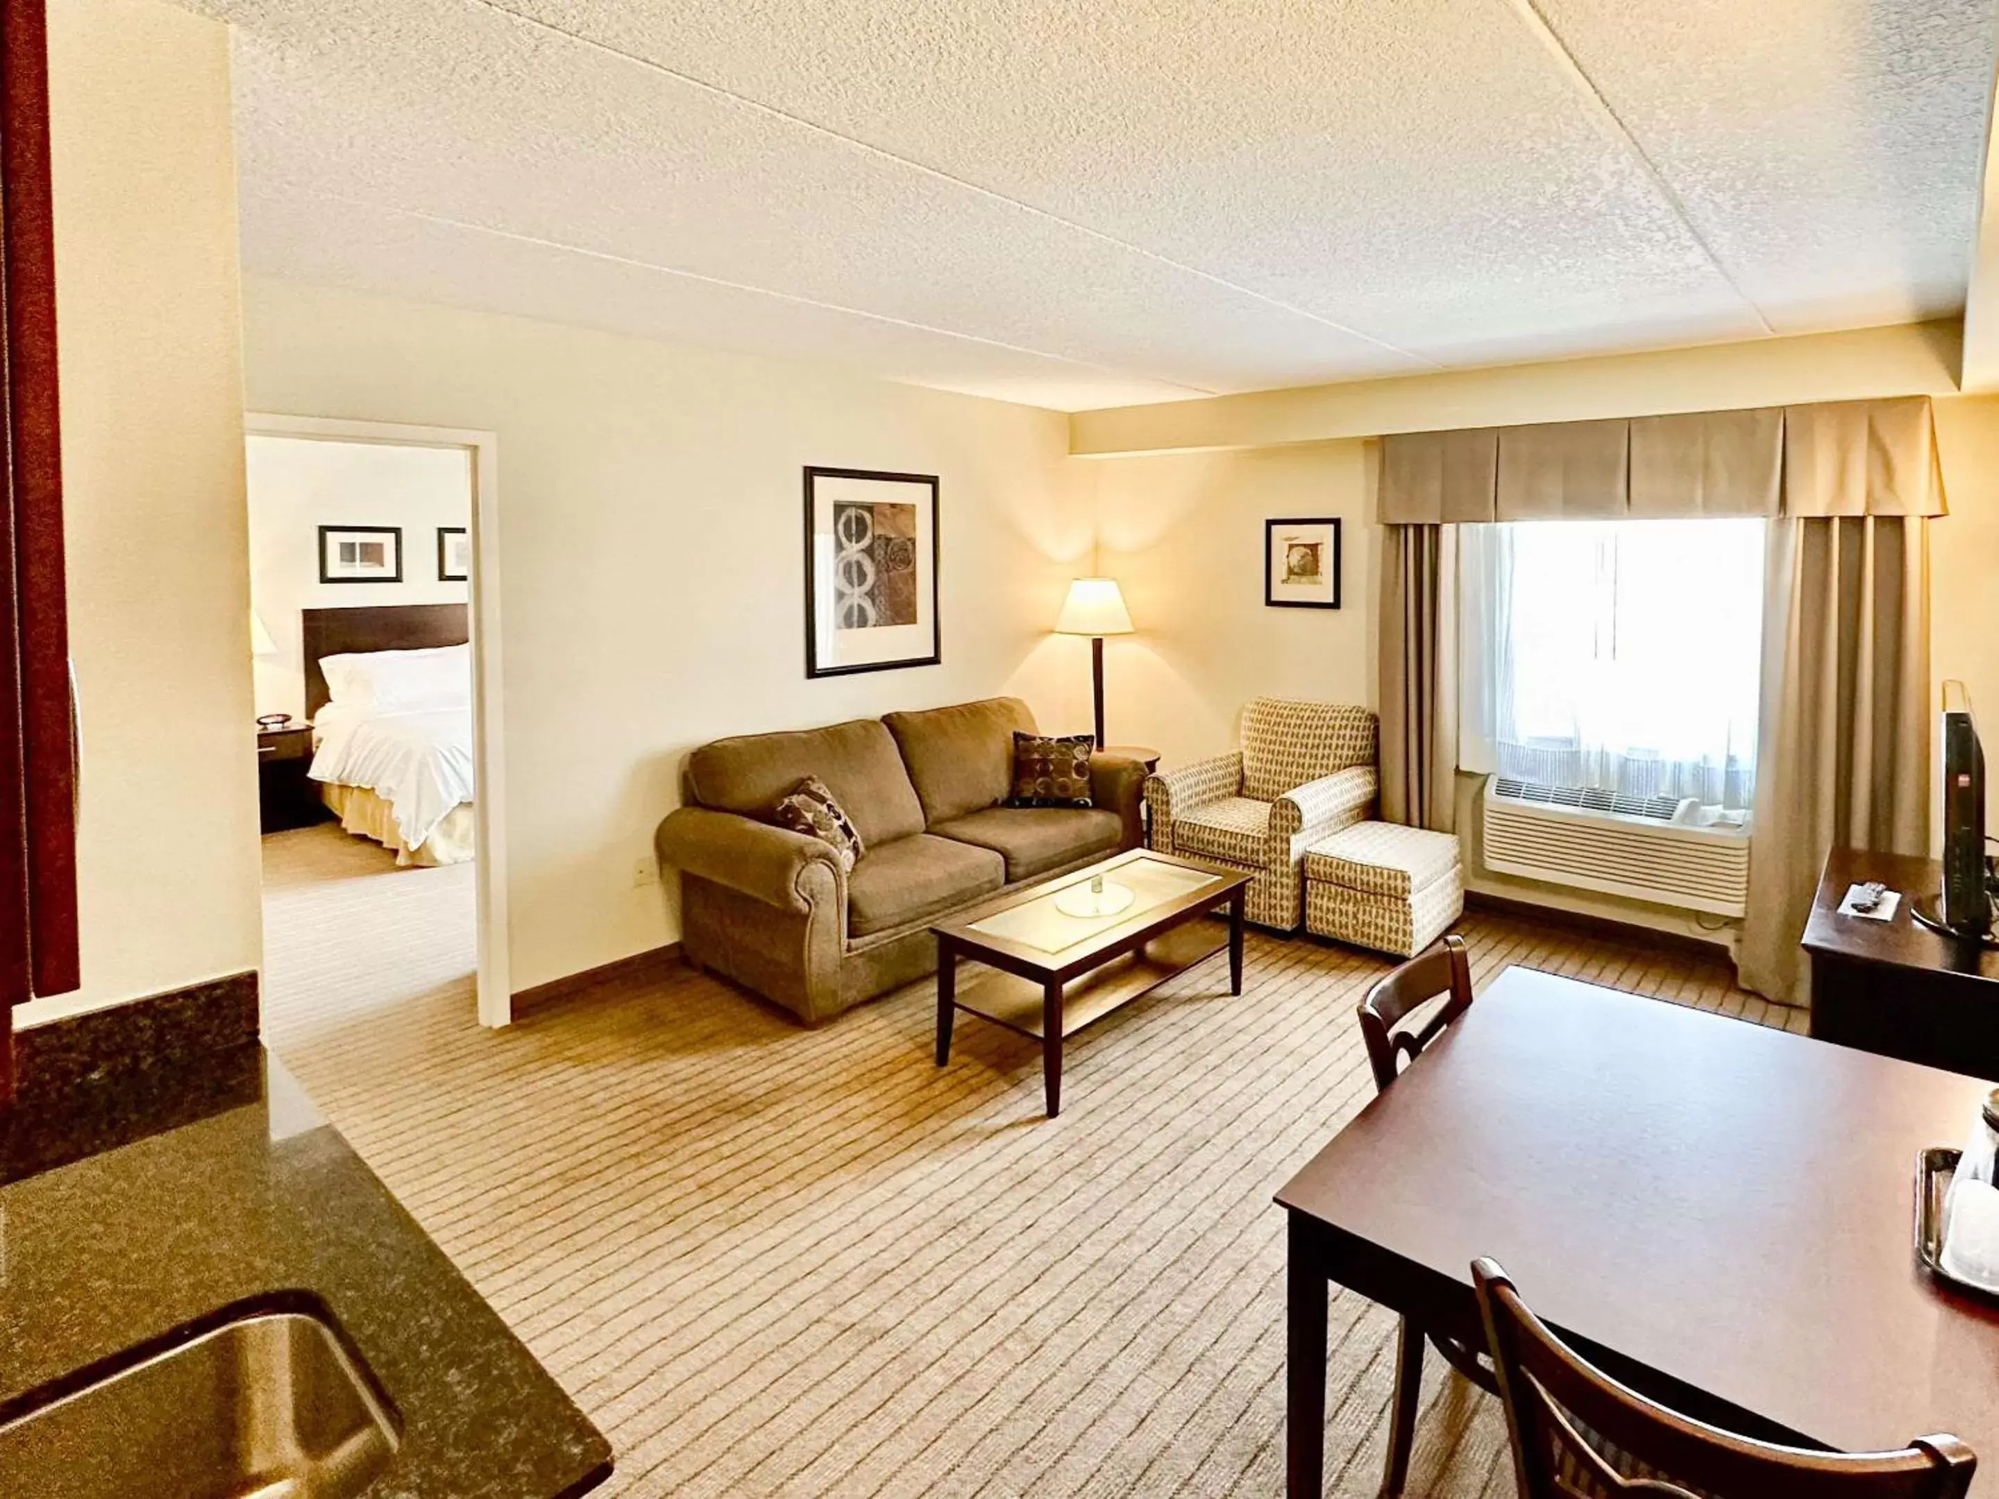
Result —
<instances>
[{"instance_id":1,"label":"narrow beige wall section between dark cabinet and bedroom doorway","mask_svg":"<svg viewBox=\"0 0 1999 1499\"><path fill-rule=\"evenodd\" d=\"M48 8L84 989L22 1023L256 967L228 30Z\"/></svg>"}]
</instances>

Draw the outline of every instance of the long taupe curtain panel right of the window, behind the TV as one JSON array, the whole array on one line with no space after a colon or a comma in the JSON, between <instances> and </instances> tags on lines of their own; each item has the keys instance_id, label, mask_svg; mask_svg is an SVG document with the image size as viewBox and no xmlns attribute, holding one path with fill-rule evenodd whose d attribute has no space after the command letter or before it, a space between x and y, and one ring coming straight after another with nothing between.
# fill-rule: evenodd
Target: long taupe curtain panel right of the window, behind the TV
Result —
<instances>
[{"instance_id":1,"label":"long taupe curtain panel right of the window, behind the TV","mask_svg":"<svg viewBox=\"0 0 1999 1499\"><path fill-rule=\"evenodd\" d=\"M1929 853L1929 522L1787 518L1771 526L1765 566L1737 965L1745 989L1805 1005L1797 943L1827 851Z\"/></svg>"}]
</instances>

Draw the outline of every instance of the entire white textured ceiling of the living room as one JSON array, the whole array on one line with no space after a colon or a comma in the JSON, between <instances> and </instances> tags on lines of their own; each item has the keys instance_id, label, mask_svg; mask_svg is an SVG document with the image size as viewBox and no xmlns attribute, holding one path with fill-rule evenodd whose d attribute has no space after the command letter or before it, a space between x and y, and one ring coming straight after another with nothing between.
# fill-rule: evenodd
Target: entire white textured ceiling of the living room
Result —
<instances>
[{"instance_id":1,"label":"entire white textured ceiling of the living room","mask_svg":"<svg viewBox=\"0 0 1999 1499\"><path fill-rule=\"evenodd\" d=\"M252 272L1057 408L1963 306L1999 0L196 0Z\"/></svg>"}]
</instances>

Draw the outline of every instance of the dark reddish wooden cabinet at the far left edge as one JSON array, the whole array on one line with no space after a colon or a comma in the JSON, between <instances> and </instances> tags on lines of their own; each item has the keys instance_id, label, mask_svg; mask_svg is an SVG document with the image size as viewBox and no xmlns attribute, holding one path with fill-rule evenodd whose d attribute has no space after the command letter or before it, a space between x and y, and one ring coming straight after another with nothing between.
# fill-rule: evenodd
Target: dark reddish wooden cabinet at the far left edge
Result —
<instances>
[{"instance_id":1,"label":"dark reddish wooden cabinet at the far left edge","mask_svg":"<svg viewBox=\"0 0 1999 1499\"><path fill-rule=\"evenodd\" d=\"M42 0L0 0L0 1103L12 1007L80 985Z\"/></svg>"}]
</instances>

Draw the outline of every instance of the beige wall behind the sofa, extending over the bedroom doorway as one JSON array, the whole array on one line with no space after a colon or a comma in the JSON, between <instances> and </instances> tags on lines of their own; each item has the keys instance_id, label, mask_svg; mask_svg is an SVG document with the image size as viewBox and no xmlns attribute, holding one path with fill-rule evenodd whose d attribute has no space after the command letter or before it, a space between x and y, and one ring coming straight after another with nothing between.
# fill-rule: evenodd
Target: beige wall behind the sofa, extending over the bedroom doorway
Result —
<instances>
[{"instance_id":1,"label":"beige wall behind the sofa, extending over the bedroom doorway","mask_svg":"<svg viewBox=\"0 0 1999 1499\"><path fill-rule=\"evenodd\" d=\"M634 887L686 751L1019 692L1087 728L1067 420L852 374L252 278L260 412L498 432L514 987L678 935ZM944 664L808 682L806 464L942 478Z\"/></svg>"}]
</instances>

